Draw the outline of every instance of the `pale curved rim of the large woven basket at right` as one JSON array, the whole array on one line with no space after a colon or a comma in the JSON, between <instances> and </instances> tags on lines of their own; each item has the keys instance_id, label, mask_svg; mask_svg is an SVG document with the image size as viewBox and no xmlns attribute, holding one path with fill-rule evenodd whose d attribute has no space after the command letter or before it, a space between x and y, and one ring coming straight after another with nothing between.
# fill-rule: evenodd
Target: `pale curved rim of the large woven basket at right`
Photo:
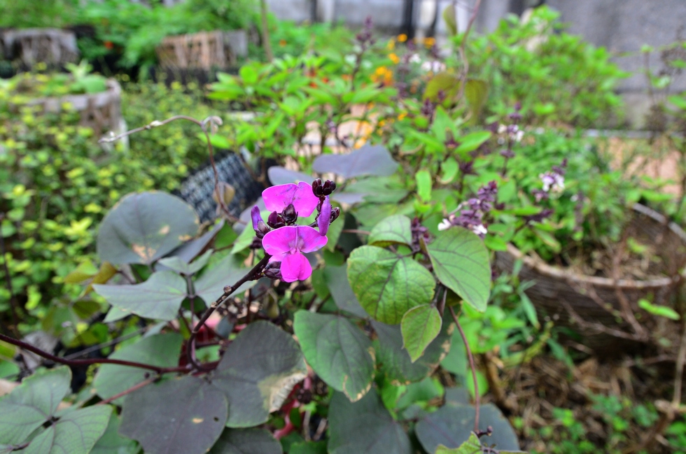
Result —
<instances>
[{"instance_id":1,"label":"pale curved rim of the large woven basket at right","mask_svg":"<svg viewBox=\"0 0 686 454\"><path fill-rule=\"evenodd\" d=\"M661 215L657 211L654 211L652 208L648 208L645 205L642 204L635 204L633 206L633 210L643 214L647 215L648 217L652 218L652 220L659 222L661 224L664 224L666 218L664 215ZM669 222L668 225L669 229L676 235L680 237L680 239L686 243L686 232L683 231L679 225L677 225L675 222ZM548 276L550 278L555 278L555 279L561 279L564 281L573 281L574 283L579 283L579 284L590 284L594 285L595 287L602 287L602 288L625 288L625 289L635 289L635 290L651 290L653 288L663 288L666 285L672 285L673 283L677 282L680 279L680 276L674 276L672 278L670 277L664 277L664 278L653 278L653 279L645 279L645 280L636 280L636 279L612 279L612 278L601 278L598 276L587 276L585 274L580 274L575 271L573 271L570 268L564 268L564 267L557 267L555 265L549 265L540 258L537 257L531 257L531 255L526 255L521 252L516 246L514 246L512 243L507 244L507 253L512 255L514 257L514 260L521 260L526 267L529 267L533 269L534 271L537 271L538 273L542 274L543 276ZM681 271L681 277L686 278L686 269Z\"/></svg>"}]
</instances>

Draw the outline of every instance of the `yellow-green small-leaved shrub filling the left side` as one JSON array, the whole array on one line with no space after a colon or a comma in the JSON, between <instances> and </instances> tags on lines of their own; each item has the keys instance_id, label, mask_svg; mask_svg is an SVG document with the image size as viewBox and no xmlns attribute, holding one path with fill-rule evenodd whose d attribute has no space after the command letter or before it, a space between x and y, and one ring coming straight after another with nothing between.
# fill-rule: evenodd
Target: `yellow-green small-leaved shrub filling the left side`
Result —
<instances>
[{"instance_id":1,"label":"yellow-green small-leaved shrub filling the left side","mask_svg":"<svg viewBox=\"0 0 686 454\"><path fill-rule=\"evenodd\" d=\"M205 118L211 108L190 85L126 85L123 115L137 127L183 112ZM0 91L0 211L13 291L27 308L60 295L64 276L94 252L95 226L124 194L174 190L189 169L207 161L195 125L175 122L130 137L130 147L97 145L78 113L43 115L7 102ZM195 128L195 130L194 130ZM4 276L0 279L4 280ZM76 291L76 290L75 290ZM7 309L5 285L0 312Z\"/></svg>"}]
</instances>

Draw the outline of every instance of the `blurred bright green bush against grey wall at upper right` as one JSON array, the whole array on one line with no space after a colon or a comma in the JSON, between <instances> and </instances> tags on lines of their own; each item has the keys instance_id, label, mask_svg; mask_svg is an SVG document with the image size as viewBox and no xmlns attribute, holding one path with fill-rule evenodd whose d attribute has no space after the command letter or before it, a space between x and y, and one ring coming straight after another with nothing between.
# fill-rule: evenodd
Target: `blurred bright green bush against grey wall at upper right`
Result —
<instances>
[{"instance_id":1,"label":"blurred bright green bush against grey wall at upper right","mask_svg":"<svg viewBox=\"0 0 686 454\"><path fill-rule=\"evenodd\" d=\"M470 38L470 74L490 87L486 115L502 117L519 101L526 124L601 127L621 120L615 88L628 74L608 50L566 33L558 19L542 6L528 22L510 15L491 34Z\"/></svg>"}]
</instances>

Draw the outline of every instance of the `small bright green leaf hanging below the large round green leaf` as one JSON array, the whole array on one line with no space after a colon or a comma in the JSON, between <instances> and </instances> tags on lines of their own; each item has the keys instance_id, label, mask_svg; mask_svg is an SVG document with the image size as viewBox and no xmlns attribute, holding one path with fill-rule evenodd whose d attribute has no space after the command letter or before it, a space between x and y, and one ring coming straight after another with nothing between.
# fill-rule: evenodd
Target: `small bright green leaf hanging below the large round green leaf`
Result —
<instances>
[{"instance_id":1,"label":"small bright green leaf hanging below the large round green leaf","mask_svg":"<svg viewBox=\"0 0 686 454\"><path fill-rule=\"evenodd\" d=\"M434 306L417 306L402 316L402 347L407 350L412 362L419 359L426 347L436 339L441 325L441 315Z\"/></svg>"}]
</instances>

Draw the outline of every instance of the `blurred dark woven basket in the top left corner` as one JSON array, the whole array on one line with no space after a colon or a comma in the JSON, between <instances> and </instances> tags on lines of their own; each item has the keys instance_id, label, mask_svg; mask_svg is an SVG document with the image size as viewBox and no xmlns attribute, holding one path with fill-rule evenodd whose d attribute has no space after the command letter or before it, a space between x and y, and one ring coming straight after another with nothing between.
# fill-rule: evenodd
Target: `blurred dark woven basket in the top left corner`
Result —
<instances>
[{"instance_id":1,"label":"blurred dark woven basket in the top left corner","mask_svg":"<svg viewBox=\"0 0 686 454\"><path fill-rule=\"evenodd\" d=\"M4 29L0 41L6 59L31 68L41 62L52 66L78 61L76 35L60 29Z\"/></svg>"}]
</instances>

